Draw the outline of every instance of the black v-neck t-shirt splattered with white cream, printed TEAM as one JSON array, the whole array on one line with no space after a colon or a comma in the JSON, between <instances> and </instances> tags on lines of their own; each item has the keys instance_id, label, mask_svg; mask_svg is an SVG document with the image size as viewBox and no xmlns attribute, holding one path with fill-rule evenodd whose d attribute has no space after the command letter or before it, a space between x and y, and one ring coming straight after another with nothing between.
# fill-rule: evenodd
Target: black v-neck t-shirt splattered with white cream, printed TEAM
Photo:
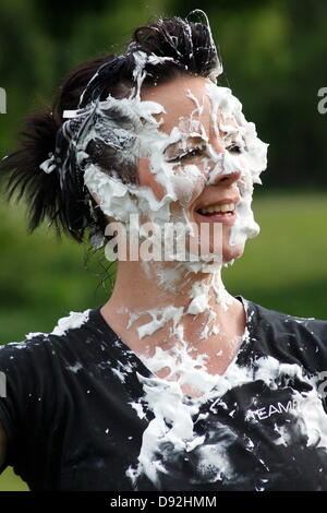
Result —
<instances>
[{"instance_id":1,"label":"black v-neck t-shirt splattered with white cream, printed TEAM","mask_svg":"<svg viewBox=\"0 0 327 513\"><path fill-rule=\"evenodd\" d=\"M327 322L243 301L238 356L178 414L100 307L2 346L5 465L32 490L327 490Z\"/></svg>"}]
</instances>

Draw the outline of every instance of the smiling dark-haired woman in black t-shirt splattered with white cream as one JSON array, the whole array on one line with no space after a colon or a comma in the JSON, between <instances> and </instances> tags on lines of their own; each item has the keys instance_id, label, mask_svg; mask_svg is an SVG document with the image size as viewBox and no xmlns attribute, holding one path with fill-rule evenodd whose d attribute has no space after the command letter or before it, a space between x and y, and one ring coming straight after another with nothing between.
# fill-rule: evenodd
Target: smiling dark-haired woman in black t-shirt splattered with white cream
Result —
<instances>
[{"instance_id":1,"label":"smiling dark-haired woman in black t-shirt splattered with white cream","mask_svg":"<svg viewBox=\"0 0 327 513\"><path fill-rule=\"evenodd\" d=\"M118 254L107 303L0 351L0 460L32 490L327 490L327 323L221 282L267 150L221 71L206 23L159 20L3 162L33 229Z\"/></svg>"}]
</instances>

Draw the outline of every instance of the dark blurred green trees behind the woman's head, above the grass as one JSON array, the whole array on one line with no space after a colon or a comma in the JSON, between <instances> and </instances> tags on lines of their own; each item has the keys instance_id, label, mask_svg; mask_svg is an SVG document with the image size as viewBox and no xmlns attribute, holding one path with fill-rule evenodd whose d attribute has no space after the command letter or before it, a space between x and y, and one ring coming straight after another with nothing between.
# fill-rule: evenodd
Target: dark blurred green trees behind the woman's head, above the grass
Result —
<instances>
[{"instance_id":1,"label":"dark blurred green trees behind the woman's head, above the grass","mask_svg":"<svg viewBox=\"0 0 327 513\"><path fill-rule=\"evenodd\" d=\"M225 75L259 136L270 143L265 183L277 188L327 184L327 116L317 92L327 86L325 0L2 0L0 152L14 147L25 112L51 102L61 76L81 61L120 51L133 28L157 15L186 15L201 7L221 47Z\"/></svg>"}]
</instances>

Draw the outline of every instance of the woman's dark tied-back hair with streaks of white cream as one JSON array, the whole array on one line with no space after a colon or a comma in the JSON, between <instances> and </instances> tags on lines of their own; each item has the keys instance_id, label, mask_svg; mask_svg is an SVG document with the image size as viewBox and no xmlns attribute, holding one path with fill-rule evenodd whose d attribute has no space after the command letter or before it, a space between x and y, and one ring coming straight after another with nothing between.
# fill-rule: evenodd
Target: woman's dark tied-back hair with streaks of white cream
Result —
<instances>
[{"instance_id":1,"label":"woman's dark tied-back hair with streaks of white cream","mask_svg":"<svg viewBox=\"0 0 327 513\"><path fill-rule=\"evenodd\" d=\"M83 109L94 100L106 99L109 94L116 98L126 96L135 85L135 52L140 50L147 56L166 58L157 63L149 59L142 87L161 84L181 74L215 76L220 65L207 23L171 17L136 28L124 55L97 57L72 71L60 86L52 109L26 119L20 132L21 148L0 165L0 177L8 177L7 198L17 192L17 201L22 196L26 199L31 231L48 218L58 235L63 230L80 242L87 228L104 234L106 218L84 186L74 155L68 156L63 111ZM114 121L124 122L123 119ZM93 162L108 172L113 167L119 168L123 180L136 181L135 167L117 166L116 148L90 142L87 152ZM40 165L49 156L53 158L55 170L45 172ZM64 174L60 172L63 162Z\"/></svg>"}]
</instances>

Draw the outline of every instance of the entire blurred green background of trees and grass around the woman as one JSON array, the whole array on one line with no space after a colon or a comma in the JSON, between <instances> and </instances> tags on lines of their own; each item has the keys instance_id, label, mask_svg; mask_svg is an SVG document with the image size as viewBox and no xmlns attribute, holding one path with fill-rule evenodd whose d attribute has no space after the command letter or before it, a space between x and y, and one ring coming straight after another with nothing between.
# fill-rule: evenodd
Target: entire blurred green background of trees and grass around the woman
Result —
<instances>
[{"instance_id":1,"label":"entire blurred green background of trees and grass around the woman","mask_svg":"<svg viewBox=\"0 0 327 513\"><path fill-rule=\"evenodd\" d=\"M1 0L0 156L15 148L22 118L50 105L73 67L119 51L134 27L157 15L195 8L207 12L220 47L220 85L233 90L270 144L254 198L262 234L223 272L226 284L265 307L326 319L327 115L317 110L317 92L327 87L325 0ZM24 205L8 205L3 195L0 243L2 344L49 331L58 318L110 294L99 255L68 239L58 243L46 226L27 237ZM19 489L26 487L8 469L0 490Z\"/></svg>"}]
</instances>

